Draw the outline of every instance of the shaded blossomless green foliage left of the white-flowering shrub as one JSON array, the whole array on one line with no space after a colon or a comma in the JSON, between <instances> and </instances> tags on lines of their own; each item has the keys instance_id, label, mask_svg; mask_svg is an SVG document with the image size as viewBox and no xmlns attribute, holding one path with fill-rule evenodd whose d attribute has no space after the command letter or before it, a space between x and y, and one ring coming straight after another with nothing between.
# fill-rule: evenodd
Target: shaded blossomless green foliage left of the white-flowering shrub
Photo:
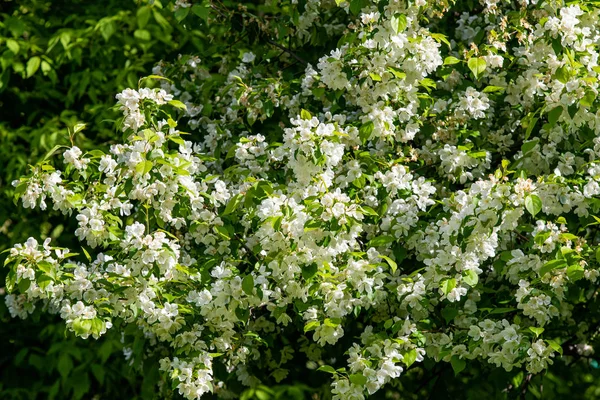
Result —
<instances>
[{"instance_id":1,"label":"shaded blossomless green foliage left of the white-flowering shrub","mask_svg":"<svg viewBox=\"0 0 600 400\"><path fill-rule=\"evenodd\" d=\"M150 36L140 39L144 31ZM127 1L4 1L0 4L0 251L29 236L76 240L55 214L23 212L10 182L27 173L69 127L86 123L74 140L93 148L119 137L110 122L114 95L137 84L161 59L197 52L197 32L169 10ZM0 263L5 255L0 255ZM0 269L4 293L6 269ZM121 333L98 343L65 337L60 319L10 318L0 304L0 398L89 398L153 393L123 359ZM110 361L109 361L110 360ZM152 381L154 379L154 381Z\"/></svg>"}]
</instances>

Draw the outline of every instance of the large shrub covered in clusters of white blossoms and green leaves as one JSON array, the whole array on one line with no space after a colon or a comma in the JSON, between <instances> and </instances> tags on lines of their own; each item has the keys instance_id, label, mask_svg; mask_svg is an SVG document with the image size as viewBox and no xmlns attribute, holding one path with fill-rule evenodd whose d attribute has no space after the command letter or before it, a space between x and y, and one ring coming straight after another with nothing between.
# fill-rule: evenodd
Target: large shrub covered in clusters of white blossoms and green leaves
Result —
<instances>
[{"instance_id":1,"label":"large shrub covered in clusters of white blossoms and green leaves","mask_svg":"<svg viewBox=\"0 0 600 400\"><path fill-rule=\"evenodd\" d=\"M321 6L292 7L296 38L342 36L299 81L251 52L217 83L162 63L161 88L117 95L122 143L13 182L76 218L87 261L16 245L10 312L83 338L137 326L190 399L298 360L362 399L426 360L530 379L567 345L590 355L600 9Z\"/></svg>"}]
</instances>

